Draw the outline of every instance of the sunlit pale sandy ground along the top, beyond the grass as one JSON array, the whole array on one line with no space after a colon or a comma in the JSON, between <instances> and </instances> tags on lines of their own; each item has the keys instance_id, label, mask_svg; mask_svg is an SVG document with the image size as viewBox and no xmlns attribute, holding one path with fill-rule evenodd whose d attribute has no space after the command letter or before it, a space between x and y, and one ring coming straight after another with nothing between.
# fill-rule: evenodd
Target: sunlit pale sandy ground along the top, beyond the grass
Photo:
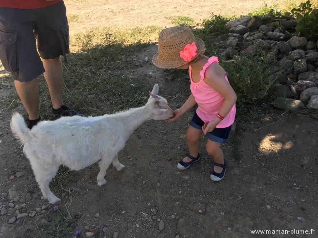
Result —
<instances>
[{"instance_id":1,"label":"sunlit pale sandy ground along the top, beyond the grass","mask_svg":"<svg viewBox=\"0 0 318 238\"><path fill-rule=\"evenodd\" d=\"M89 30L97 26L173 26L167 19L173 16L191 17L200 23L211 13L244 15L259 8L263 3L273 5L272 0L65 0L67 13L75 17L70 21L70 32ZM69 17L69 19L71 19Z\"/></svg>"}]
</instances>

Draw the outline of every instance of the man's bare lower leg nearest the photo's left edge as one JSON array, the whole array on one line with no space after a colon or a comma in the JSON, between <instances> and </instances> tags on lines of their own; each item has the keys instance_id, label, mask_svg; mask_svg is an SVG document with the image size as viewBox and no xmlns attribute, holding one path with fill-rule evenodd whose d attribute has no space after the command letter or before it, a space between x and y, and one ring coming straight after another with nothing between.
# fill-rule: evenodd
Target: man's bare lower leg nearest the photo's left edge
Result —
<instances>
[{"instance_id":1,"label":"man's bare lower leg nearest the photo's left edge","mask_svg":"<svg viewBox=\"0 0 318 238\"><path fill-rule=\"evenodd\" d=\"M29 82L14 81L17 93L29 114L30 120L39 118L39 85L37 78Z\"/></svg>"}]
</instances>

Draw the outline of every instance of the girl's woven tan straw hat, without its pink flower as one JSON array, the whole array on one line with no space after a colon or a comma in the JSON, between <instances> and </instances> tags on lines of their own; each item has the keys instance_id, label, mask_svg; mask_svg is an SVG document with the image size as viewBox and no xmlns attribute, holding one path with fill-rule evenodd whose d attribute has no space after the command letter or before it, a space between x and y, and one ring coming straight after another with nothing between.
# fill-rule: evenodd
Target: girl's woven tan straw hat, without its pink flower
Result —
<instances>
[{"instance_id":1,"label":"girl's woven tan straw hat, without its pink flower","mask_svg":"<svg viewBox=\"0 0 318 238\"><path fill-rule=\"evenodd\" d=\"M163 69L172 69L189 63L190 61L180 57L180 51L193 42L199 55L204 50L204 42L196 38L188 27L174 26L162 30L159 34L158 52L152 58L152 63Z\"/></svg>"}]
</instances>

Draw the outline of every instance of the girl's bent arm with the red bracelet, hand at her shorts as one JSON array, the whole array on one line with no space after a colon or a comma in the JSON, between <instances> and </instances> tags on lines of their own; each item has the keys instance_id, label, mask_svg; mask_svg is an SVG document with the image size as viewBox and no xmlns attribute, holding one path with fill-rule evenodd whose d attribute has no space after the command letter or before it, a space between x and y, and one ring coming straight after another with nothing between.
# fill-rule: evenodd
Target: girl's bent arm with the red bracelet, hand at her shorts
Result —
<instances>
[{"instance_id":1,"label":"girl's bent arm with the red bracelet, hand at her shorts","mask_svg":"<svg viewBox=\"0 0 318 238\"><path fill-rule=\"evenodd\" d=\"M204 82L209 84L211 88L215 89L225 98L218 112L221 116L225 117L231 111L237 97L231 85L225 80L224 69L218 64L212 64L211 66L213 67L209 67L205 71ZM205 122L202 127L204 134L211 132L221 121L222 120L216 116L211 122Z\"/></svg>"}]
</instances>

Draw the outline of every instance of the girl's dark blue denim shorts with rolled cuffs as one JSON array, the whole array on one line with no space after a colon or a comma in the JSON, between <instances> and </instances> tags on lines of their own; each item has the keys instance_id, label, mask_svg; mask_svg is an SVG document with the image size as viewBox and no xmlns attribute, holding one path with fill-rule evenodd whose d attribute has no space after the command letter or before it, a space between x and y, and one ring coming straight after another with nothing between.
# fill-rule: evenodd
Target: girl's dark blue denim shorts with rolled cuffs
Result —
<instances>
[{"instance_id":1,"label":"girl's dark blue denim shorts with rolled cuffs","mask_svg":"<svg viewBox=\"0 0 318 238\"><path fill-rule=\"evenodd\" d=\"M202 126L204 125L204 121L197 115L197 112L194 113L192 120L190 122L190 126L202 130ZM211 132L207 133L206 136L214 142L225 143L227 138L229 138L229 134L231 131L231 126L225 128L214 128Z\"/></svg>"}]
</instances>

